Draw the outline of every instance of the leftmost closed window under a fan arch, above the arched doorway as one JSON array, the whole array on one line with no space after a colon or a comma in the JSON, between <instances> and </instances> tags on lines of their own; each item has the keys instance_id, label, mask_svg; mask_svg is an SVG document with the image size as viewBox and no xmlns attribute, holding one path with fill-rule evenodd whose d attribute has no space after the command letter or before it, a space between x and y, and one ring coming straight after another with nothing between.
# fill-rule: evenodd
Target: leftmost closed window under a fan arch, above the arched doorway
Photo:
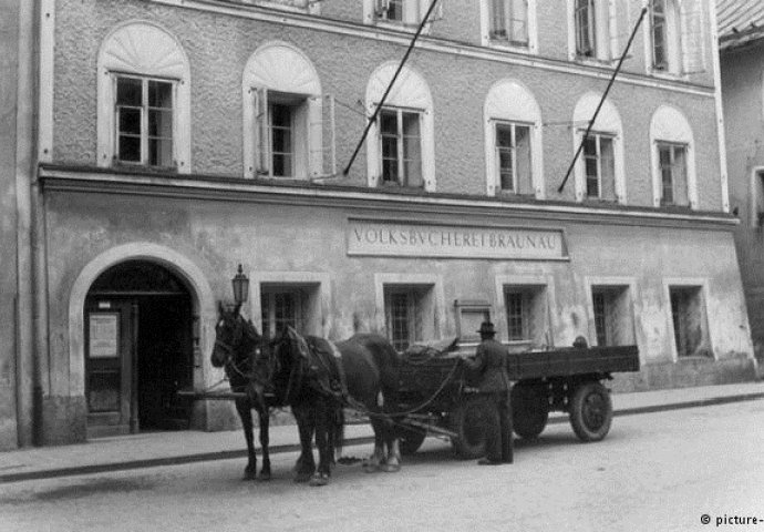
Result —
<instances>
[{"instance_id":1,"label":"leftmost closed window under a fan arch, above the arched doorway","mask_svg":"<svg viewBox=\"0 0 764 532\"><path fill-rule=\"evenodd\" d=\"M116 160L173 166L173 83L115 76Z\"/></svg>"}]
</instances>

